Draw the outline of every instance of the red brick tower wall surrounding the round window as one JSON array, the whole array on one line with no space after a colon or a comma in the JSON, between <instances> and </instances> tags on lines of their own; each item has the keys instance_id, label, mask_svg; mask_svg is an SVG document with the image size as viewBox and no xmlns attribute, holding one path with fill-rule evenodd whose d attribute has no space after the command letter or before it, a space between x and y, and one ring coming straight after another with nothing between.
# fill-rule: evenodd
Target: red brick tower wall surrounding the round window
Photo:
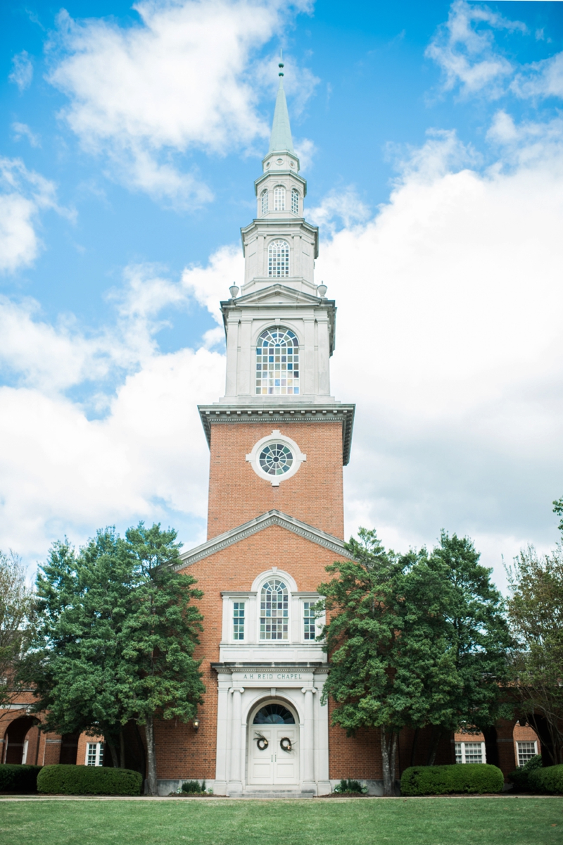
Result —
<instances>
[{"instance_id":1,"label":"red brick tower wall surrounding the round window","mask_svg":"<svg viewBox=\"0 0 563 845\"><path fill-rule=\"evenodd\" d=\"M295 476L272 487L246 455L276 428L295 440L307 460ZM212 424L208 539L273 509L344 537L342 423Z\"/></svg>"}]
</instances>

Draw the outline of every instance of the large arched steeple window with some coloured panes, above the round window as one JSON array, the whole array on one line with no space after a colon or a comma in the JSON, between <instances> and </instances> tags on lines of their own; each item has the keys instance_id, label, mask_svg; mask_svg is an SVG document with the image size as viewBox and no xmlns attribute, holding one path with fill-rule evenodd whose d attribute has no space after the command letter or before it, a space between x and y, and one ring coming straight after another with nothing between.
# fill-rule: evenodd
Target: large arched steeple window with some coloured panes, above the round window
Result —
<instances>
[{"instance_id":1,"label":"large arched steeple window with some coloured panes, above the round window","mask_svg":"<svg viewBox=\"0 0 563 845\"><path fill-rule=\"evenodd\" d=\"M299 341L290 329L263 331L256 345L257 395L299 393Z\"/></svg>"}]
</instances>

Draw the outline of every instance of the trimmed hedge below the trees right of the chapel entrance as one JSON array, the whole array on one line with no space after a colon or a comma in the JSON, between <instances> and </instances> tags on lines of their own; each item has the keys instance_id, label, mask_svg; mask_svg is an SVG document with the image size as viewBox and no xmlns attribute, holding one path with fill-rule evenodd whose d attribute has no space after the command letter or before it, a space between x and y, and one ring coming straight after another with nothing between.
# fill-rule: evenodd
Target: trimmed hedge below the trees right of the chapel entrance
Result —
<instances>
[{"instance_id":1,"label":"trimmed hedge below the trees right of the chapel entrance","mask_svg":"<svg viewBox=\"0 0 563 845\"><path fill-rule=\"evenodd\" d=\"M401 795L502 792L504 777L486 763L453 766L411 766L403 771Z\"/></svg>"}]
</instances>

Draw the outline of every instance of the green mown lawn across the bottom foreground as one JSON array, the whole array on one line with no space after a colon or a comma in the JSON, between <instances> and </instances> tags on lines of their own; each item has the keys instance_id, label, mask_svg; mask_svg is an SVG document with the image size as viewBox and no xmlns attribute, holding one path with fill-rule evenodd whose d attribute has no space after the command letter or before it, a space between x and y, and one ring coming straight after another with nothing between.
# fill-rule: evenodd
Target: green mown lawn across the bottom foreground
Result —
<instances>
[{"instance_id":1,"label":"green mown lawn across the bottom foreground","mask_svg":"<svg viewBox=\"0 0 563 845\"><path fill-rule=\"evenodd\" d=\"M561 845L563 799L0 799L2 845Z\"/></svg>"}]
</instances>

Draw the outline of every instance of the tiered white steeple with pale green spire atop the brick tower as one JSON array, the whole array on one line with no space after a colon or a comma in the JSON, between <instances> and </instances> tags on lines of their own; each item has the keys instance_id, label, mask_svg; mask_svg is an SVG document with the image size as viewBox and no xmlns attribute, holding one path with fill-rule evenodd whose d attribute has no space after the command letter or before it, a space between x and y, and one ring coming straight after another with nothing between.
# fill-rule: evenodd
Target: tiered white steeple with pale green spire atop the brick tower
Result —
<instances>
[{"instance_id":1,"label":"tiered white steeple with pale green spire atop the brick tower","mask_svg":"<svg viewBox=\"0 0 563 845\"><path fill-rule=\"evenodd\" d=\"M254 183L257 216L241 229L244 281L240 287L235 283L230 301L221 303L227 335L221 404L334 402L328 362L336 308L325 297L326 286L314 279L318 229L303 215L306 180L291 138L283 67L280 62L268 155ZM267 343L279 344L279 354L267 355Z\"/></svg>"}]
</instances>

